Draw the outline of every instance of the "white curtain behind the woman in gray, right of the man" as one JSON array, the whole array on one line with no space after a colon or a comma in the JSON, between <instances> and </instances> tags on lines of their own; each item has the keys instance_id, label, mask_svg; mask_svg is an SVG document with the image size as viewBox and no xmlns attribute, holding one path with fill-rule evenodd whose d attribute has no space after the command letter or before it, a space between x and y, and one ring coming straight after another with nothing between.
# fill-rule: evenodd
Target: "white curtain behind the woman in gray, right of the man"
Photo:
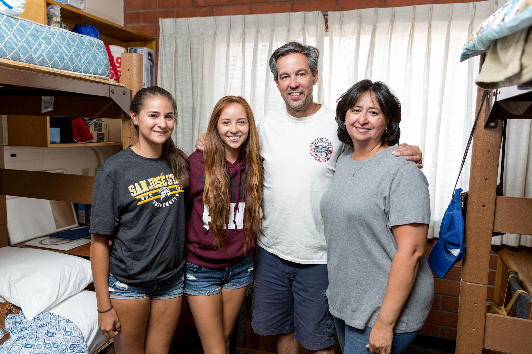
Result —
<instances>
[{"instance_id":1,"label":"white curtain behind the woman in gray, right of the man","mask_svg":"<svg viewBox=\"0 0 532 354\"><path fill-rule=\"evenodd\" d=\"M503 4L491 0L328 14L325 103L334 107L340 94L362 79L383 81L395 92L402 103L401 142L419 145L423 151L433 220L429 238L438 237L476 114L473 80L479 58L460 63L460 53L473 29ZM527 153L532 144L530 121L511 123L527 126L508 129L505 194L529 196L532 185L525 183L524 176L530 167L523 167L522 161L532 157ZM458 183L464 190L469 168L468 158ZM505 235L502 242L532 246L532 237ZM500 244L501 237L493 243Z\"/></svg>"}]
</instances>

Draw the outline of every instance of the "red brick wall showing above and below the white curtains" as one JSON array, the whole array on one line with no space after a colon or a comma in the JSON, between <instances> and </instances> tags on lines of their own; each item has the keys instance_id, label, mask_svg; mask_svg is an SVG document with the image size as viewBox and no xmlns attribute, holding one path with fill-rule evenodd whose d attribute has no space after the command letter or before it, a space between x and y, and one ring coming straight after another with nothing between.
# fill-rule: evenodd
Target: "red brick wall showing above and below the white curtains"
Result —
<instances>
[{"instance_id":1,"label":"red brick wall showing above and below the white curtains","mask_svg":"<svg viewBox=\"0 0 532 354\"><path fill-rule=\"evenodd\" d=\"M124 0L124 25L139 32L159 38L159 18L195 16L222 16L298 11L343 11L368 7L397 7L422 4L463 3L467 0ZM157 40L159 49L159 40ZM435 240L427 243L428 256ZM492 248L489 265L488 297L493 298L497 252ZM532 252L530 248L507 247L510 251ZM528 251L527 251L528 250ZM433 309L422 334L456 339L458 321L458 296L460 293L461 262L455 265L445 279L434 278Z\"/></svg>"}]
</instances>

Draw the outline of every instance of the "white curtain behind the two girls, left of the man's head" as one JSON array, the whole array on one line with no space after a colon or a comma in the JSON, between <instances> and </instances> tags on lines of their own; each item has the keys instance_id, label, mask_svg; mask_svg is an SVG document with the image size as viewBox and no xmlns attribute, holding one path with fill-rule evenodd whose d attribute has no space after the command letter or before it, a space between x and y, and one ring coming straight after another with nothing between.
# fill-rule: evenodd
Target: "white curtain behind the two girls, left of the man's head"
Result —
<instances>
[{"instance_id":1,"label":"white curtain behind the two girls, left of the man's head","mask_svg":"<svg viewBox=\"0 0 532 354\"><path fill-rule=\"evenodd\" d=\"M174 142L188 153L223 96L243 96L257 122L282 107L268 66L273 50L297 40L321 51L325 38L325 20L318 11L161 19L159 24L157 82L176 98ZM322 87L320 81L314 90L320 102Z\"/></svg>"}]
</instances>

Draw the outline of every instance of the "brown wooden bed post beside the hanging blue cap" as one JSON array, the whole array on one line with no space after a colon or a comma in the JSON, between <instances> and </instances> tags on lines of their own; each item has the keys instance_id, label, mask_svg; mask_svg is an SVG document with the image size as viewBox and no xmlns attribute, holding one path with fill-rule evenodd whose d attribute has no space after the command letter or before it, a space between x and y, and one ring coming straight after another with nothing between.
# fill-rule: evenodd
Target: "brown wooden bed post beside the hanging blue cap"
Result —
<instances>
[{"instance_id":1,"label":"brown wooden bed post beside the hanging blue cap","mask_svg":"<svg viewBox=\"0 0 532 354\"><path fill-rule=\"evenodd\" d=\"M480 58L480 67L485 54ZM502 120L497 118L485 127L489 101L493 91L488 91L478 117L471 153L471 174L465 220L465 257L460 281L456 353L482 354L486 322L486 297L488 291L489 253L492 244L495 192L498 162L501 149ZM478 111L483 90L477 90Z\"/></svg>"}]
</instances>

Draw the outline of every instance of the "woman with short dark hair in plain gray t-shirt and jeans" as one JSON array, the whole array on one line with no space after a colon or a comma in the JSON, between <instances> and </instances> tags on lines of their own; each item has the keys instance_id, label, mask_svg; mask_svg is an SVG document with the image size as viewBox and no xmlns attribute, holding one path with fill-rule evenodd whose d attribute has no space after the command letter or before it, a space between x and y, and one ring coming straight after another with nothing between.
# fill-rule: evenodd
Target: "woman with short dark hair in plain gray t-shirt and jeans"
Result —
<instances>
[{"instance_id":1,"label":"woman with short dark hair in plain gray t-shirt and jeans","mask_svg":"<svg viewBox=\"0 0 532 354\"><path fill-rule=\"evenodd\" d=\"M320 204L330 312L344 353L402 353L434 296L427 178L392 155L401 103L384 83L353 85L338 100L336 121L338 139L353 149L338 158Z\"/></svg>"}]
</instances>

